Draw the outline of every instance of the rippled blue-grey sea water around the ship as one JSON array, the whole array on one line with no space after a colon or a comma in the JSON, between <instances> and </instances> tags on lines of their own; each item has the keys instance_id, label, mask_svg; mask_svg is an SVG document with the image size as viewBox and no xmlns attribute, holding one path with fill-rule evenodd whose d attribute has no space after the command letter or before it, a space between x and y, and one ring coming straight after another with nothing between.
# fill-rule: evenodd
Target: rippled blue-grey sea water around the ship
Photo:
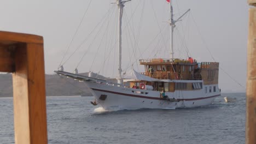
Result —
<instances>
[{"instance_id":1,"label":"rippled blue-grey sea water around the ship","mask_svg":"<svg viewBox=\"0 0 256 144\"><path fill-rule=\"evenodd\" d=\"M236 98L225 103L223 97ZM93 97L47 97L48 143L245 143L246 96L212 105L108 112ZM14 143L13 99L0 98L0 143Z\"/></svg>"}]
</instances>

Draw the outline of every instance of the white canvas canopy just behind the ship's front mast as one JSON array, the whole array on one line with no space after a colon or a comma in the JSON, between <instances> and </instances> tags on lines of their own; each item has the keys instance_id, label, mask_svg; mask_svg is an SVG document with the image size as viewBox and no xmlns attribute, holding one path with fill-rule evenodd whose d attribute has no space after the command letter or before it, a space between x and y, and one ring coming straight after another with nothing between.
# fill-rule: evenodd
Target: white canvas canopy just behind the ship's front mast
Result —
<instances>
[{"instance_id":1,"label":"white canvas canopy just behind the ship's front mast","mask_svg":"<svg viewBox=\"0 0 256 144\"><path fill-rule=\"evenodd\" d=\"M154 79L152 77L143 75L135 71L134 69L131 69L126 72L126 74L123 75L124 82L129 81L157 81L158 79Z\"/></svg>"}]
</instances>

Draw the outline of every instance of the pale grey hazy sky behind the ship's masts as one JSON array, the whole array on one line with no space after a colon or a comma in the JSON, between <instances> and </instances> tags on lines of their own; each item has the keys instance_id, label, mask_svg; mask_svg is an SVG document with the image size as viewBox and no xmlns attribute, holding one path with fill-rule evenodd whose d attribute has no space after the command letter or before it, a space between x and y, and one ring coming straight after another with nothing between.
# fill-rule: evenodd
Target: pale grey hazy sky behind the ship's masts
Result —
<instances>
[{"instance_id":1,"label":"pale grey hazy sky behind the ship's masts","mask_svg":"<svg viewBox=\"0 0 256 144\"><path fill-rule=\"evenodd\" d=\"M53 74L71 43L89 2L1 1L0 31L42 35L45 73ZM79 72L92 70L104 76L117 76L117 7L110 2L115 1L91 1L65 61L82 41L86 41L64 64L65 70L73 71L86 53L79 64ZM189 56L197 61L212 62L212 54L226 73L246 86L249 8L247 2L173 0L173 3L176 19L185 10L191 9L182 21L177 22L174 32L175 57L187 58L189 50ZM133 0L126 3L123 17L123 70L129 68L131 61L136 59L169 57L168 11L168 3L165 0ZM94 28L95 31L92 31ZM133 68L142 72L144 67L136 62ZM221 69L219 87L223 92L245 92L245 88L238 86Z\"/></svg>"}]
</instances>

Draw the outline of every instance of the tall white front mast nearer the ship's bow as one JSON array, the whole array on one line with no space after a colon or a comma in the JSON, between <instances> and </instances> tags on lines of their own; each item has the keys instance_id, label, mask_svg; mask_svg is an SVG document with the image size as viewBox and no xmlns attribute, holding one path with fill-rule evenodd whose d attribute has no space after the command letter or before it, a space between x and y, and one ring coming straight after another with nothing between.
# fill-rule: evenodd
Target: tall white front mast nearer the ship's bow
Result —
<instances>
[{"instance_id":1,"label":"tall white front mast nearer the ship's bow","mask_svg":"<svg viewBox=\"0 0 256 144\"><path fill-rule=\"evenodd\" d=\"M119 23L118 23L118 83L123 84L123 79L121 77L122 73L122 68L121 68L121 63L122 63L122 17L123 17L123 9L124 9L124 3L129 2L131 0L126 0L126 1L121 1L117 0L117 5L119 8Z\"/></svg>"}]
</instances>

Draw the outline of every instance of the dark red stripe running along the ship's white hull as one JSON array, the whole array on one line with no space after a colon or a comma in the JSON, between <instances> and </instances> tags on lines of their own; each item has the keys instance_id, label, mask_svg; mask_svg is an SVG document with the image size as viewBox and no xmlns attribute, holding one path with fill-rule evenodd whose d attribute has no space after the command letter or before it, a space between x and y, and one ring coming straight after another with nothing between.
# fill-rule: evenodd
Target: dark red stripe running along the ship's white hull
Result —
<instances>
[{"instance_id":1,"label":"dark red stripe running along the ship's white hull","mask_svg":"<svg viewBox=\"0 0 256 144\"><path fill-rule=\"evenodd\" d=\"M94 90L94 91L100 91L100 92L107 92L107 93L125 95L125 96L128 96L128 97L136 97L136 98L144 98L144 99L155 99L155 100L165 100L165 99L162 99L162 98L147 97L147 96L142 96L142 95L127 94L127 93L119 93L119 92L107 91L107 90L103 90L103 89L96 89L96 88L91 88L91 89ZM209 99L209 98L218 97L218 96L220 96L220 94L218 94L218 95L213 95L213 96L211 96L211 97L205 97L205 98L202 98L202 97L201 97L201 98L177 99L177 100L180 100L180 101L183 101L183 100L187 100L187 101L191 101L191 100L202 100L202 99Z\"/></svg>"}]
</instances>

